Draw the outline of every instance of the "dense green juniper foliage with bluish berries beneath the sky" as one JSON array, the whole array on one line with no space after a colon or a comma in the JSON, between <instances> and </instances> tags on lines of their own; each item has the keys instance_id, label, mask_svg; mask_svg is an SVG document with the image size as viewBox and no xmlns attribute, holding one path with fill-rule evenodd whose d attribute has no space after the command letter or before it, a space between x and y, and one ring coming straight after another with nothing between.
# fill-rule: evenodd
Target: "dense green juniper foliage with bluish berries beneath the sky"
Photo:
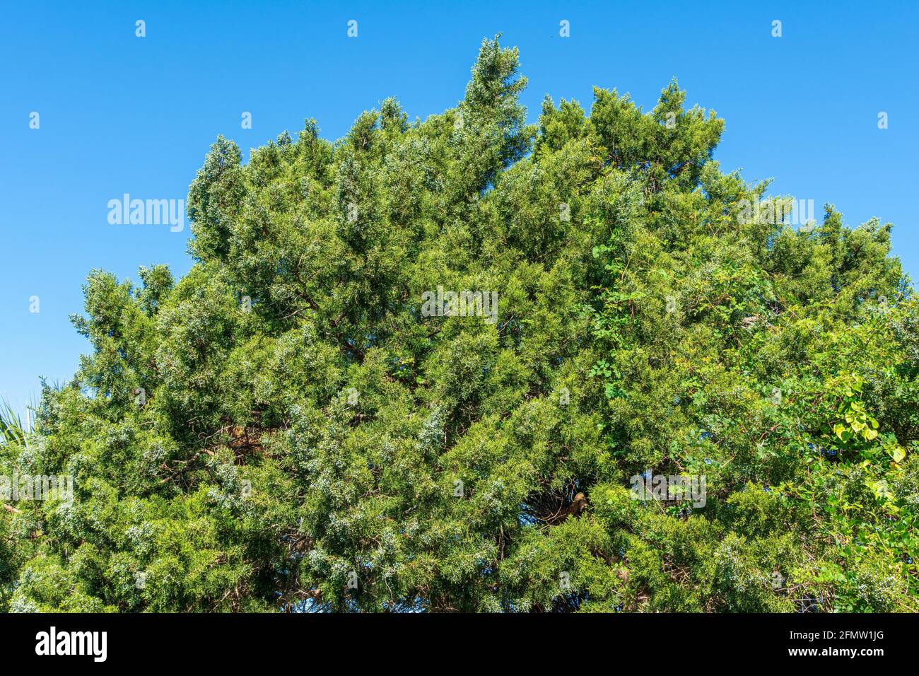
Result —
<instances>
[{"instance_id":1,"label":"dense green juniper foliage with bluish berries beneath the sky","mask_svg":"<svg viewBox=\"0 0 919 676\"><path fill-rule=\"evenodd\" d=\"M94 271L0 473L9 611L916 611L919 305L889 224L749 218L676 83L218 138L196 264ZM778 200L781 202L781 200ZM766 210L768 212L768 210ZM488 316L423 294L496 292ZM704 475L704 506L631 477Z\"/></svg>"}]
</instances>

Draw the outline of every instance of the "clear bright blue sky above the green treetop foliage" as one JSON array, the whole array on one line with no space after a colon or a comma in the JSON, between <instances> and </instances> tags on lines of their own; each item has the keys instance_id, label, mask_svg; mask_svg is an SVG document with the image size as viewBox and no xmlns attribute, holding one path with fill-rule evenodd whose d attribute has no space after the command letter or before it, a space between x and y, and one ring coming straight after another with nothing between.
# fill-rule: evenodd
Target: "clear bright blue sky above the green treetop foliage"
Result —
<instances>
[{"instance_id":1,"label":"clear bright blue sky above the green treetop foliage","mask_svg":"<svg viewBox=\"0 0 919 676\"><path fill-rule=\"evenodd\" d=\"M773 194L831 201L848 224L891 221L919 271L919 3L7 3L0 17L0 397L65 381L88 343L90 269L191 266L188 228L110 225L108 201L185 199L220 133L244 150L304 118L342 136L388 96L410 119L463 96L483 37L520 49L536 120L548 93L591 87L650 109L671 77L727 120L716 159ZM135 21L146 37L135 37ZM346 35L357 20L357 39ZM571 37L559 36L567 19ZM782 21L782 37L771 36ZM29 129L29 113L40 129ZM253 128L243 130L250 111ZM878 113L890 128L878 129ZM247 156L247 155L246 155ZM29 313L29 297L40 313Z\"/></svg>"}]
</instances>

